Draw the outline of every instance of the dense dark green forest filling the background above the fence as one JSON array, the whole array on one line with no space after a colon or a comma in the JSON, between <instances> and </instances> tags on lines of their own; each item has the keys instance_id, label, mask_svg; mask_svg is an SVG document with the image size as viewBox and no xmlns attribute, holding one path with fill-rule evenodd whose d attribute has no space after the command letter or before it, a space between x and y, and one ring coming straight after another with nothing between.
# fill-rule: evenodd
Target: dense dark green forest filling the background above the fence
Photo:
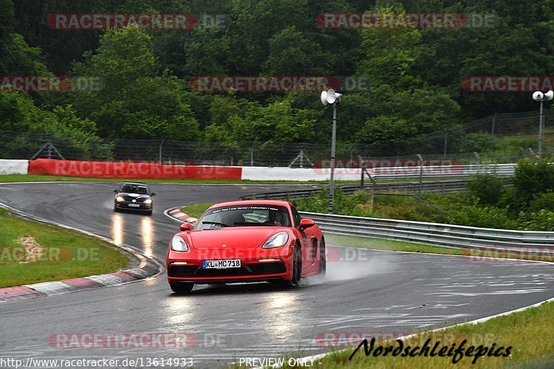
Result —
<instances>
[{"instance_id":1,"label":"dense dark green forest filling the background above the fence","mask_svg":"<svg viewBox=\"0 0 554 369\"><path fill-rule=\"evenodd\" d=\"M468 75L551 75L554 3L499 1L0 0L0 74L101 78L99 91L31 93L37 109L73 114L111 138L326 143L329 109L317 92L191 91L198 75L335 75L368 78L347 91L341 142L394 143L496 111L536 109L521 93L464 91ZM494 14L494 28L322 29L321 12ZM224 15L222 27L192 30L55 30L53 13ZM44 125L0 93L0 129ZM21 99L27 99L22 97ZM60 108L61 107L61 108ZM22 110L19 110L22 109ZM18 118L19 117L19 118ZM25 120L25 119L23 119ZM78 126L78 127L77 127ZM470 137L462 152L492 143ZM384 154L391 154L384 152Z\"/></svg>"}]
</instances>

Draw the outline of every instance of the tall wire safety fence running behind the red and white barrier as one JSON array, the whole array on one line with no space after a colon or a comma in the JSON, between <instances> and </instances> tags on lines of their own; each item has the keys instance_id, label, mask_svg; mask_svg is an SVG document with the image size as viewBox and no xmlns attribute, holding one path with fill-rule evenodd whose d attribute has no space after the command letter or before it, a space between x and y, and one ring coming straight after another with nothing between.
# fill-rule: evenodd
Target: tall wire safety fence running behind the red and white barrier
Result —
<instances>
[{"instance_id":1,"label":"tall wire safety fence running behind the red and white barrier","mask_svg":"<svg viewBox=\"0 0 554 369\"><path fill-rule=\"evenodd\" d=\"M544 112L546 122L554 111ZM493 114L465 124L413 137L395 138L394 142L337 143L337 165L361 168L361 161L447 160L452 164L515 163L535 157L538 146L538 111ZM547 127L549 127L547 125ZM328 168L330 137L318 143L283 142L187 142L172 139L100 138L94 135L69 136L61 132L0 132L2 159L67 159L79 161L136 161L166 165L273 166ZM548 136L544 156L554 147ZM477 156L475 155L477 153Z\"/></svg>"}]
</instances>

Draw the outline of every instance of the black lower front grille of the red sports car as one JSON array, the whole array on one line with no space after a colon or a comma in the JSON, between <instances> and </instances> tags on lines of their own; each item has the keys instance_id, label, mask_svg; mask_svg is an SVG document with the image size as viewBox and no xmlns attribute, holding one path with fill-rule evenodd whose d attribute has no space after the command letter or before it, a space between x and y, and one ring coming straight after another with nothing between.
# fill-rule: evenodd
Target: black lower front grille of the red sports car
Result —
<instances>
[{"instance_id":1,"label":"black lower front grille of the red sports car","mask_svg":"<svg viewBox=\"0 0 554 369\"><path fill-rule=\"evenodd\" d=\"M233 277L255 276L259 274L285 273L287 268L284 262L265 262L260 264L243 265L240 268L229 269L202 269L192 265L170 265L170 277Z\"/></svg>"}]
</instances>

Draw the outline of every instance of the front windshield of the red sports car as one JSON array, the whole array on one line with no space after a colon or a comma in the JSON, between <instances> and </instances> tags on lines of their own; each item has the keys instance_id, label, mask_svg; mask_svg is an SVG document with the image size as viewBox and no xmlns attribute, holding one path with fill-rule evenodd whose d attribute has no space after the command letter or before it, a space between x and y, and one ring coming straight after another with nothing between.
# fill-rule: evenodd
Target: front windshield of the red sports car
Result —
<instances>
[{"instance_id":1,"label":"front windshield of the red sports car","mask_svg":"<svg viewBox=\"0 0 554 369\"><path fill-rule=\"evenodd\" d=\"M238 226L290 226L285 206L244 205L210 209L199 219L196 229L219 229Z\"/></svg>"}]
</instances>

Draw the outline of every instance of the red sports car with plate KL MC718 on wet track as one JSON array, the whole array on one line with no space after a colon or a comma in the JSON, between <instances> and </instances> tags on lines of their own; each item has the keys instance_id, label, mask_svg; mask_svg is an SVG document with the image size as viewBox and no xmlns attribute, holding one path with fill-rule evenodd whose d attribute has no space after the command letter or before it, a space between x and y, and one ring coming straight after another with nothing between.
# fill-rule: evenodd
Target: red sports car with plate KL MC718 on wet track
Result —
<instances>
[{"instance_id":1,"label":"red sports car with plate KL MC718 on wet track","mask_svg":"<svg viewBox=\"0 0 554 369\"><path fill-rule=\"evenodd\" d=\"M288 201L215 204L195 226L185 223L180 229L167 258L168 281L177 294L208 283L296 286L305 276L325 273L323 233Z\"/></svg>"}]
</instances>

